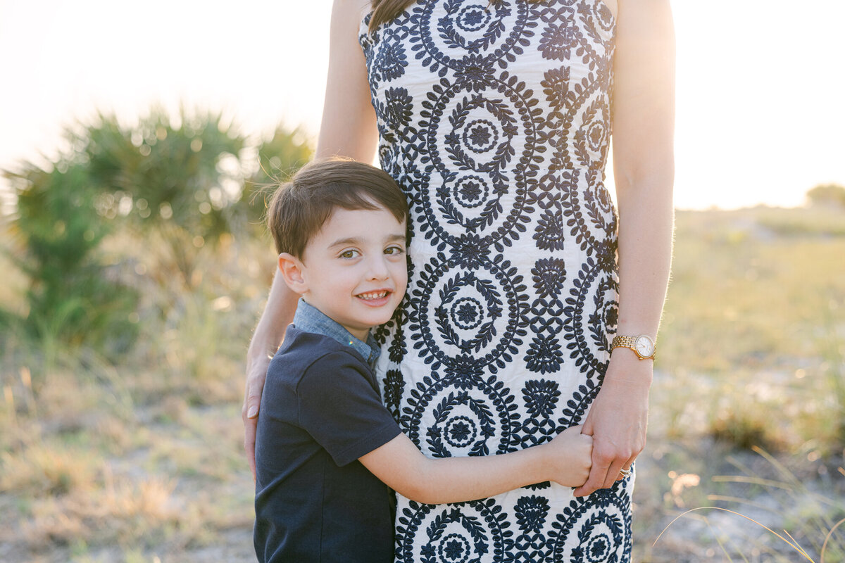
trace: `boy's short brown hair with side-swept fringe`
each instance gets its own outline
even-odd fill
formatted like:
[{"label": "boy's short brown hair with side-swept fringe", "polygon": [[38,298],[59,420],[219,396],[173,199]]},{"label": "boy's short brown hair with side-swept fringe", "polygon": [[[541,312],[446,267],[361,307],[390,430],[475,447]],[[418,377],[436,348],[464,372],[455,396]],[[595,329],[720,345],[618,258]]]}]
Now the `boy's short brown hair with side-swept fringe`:
[{"label": "boy's short brown hair with side-swept fringe", "polygon": [[270,198],[267,227],[275,249],[302,259],[308,241],[336,208],[385,208],[397,221],[408,217],[408,204],[393,178],[378,168],[341,157],[312,160]]}]

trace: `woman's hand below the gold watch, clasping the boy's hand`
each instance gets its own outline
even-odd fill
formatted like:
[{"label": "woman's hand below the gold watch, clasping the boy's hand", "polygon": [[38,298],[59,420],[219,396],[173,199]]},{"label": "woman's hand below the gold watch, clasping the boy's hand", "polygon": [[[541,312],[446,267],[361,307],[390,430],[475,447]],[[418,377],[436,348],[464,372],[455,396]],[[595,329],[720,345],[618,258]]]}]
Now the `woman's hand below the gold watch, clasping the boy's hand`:
[{"label": "woman's hand below the gold watch, clasping the boy's hand", "polygon": [[638,360],[633,350],[613,351],[602,389],[587,414],[582,432],[592,436],[592,467],[575,496],[607,489],[622,478],[646,447],[648,390],[653,360]]}]

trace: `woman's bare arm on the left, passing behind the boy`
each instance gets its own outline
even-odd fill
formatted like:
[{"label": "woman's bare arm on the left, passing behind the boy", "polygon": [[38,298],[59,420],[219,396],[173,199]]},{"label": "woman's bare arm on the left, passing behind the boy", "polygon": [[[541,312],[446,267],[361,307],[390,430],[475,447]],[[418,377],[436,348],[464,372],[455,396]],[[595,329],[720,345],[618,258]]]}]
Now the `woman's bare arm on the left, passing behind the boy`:
[{"label": "woman's bare arm on the left, passing behind the boy", "polygon": [[[332,7],[329,74],[317,140],[318,157],[341,155],[367,163],[373,161],[378,133],[370,102],[367,67],[357,39],[358,25],[368,7],[368,0],[335,0]],[[256,418],[267,366],[285,336],[285,328],[293,320],[298,297],[280,276],[275,276],[264,313],[249,344],[241,417],[243,449],[253,476]]]}]

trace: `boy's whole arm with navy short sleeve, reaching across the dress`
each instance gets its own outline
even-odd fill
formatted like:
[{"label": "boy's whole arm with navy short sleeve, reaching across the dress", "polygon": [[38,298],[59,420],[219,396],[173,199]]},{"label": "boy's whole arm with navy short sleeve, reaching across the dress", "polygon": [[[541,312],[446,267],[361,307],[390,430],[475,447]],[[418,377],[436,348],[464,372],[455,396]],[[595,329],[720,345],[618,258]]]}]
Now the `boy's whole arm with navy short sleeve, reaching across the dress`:
[{"label": "boy's whole arm with navy short sleeve, reaching across the dress", "polygon": [[314,358],[296,392],[297,424],[335,463],[360,460],[386,485],[414,501],[474,501],[549,480],[575,487],[590,473],[592,438],[581,434],[581,426],[520,452],[428,459],[384,408],[360,356],[346,350]]}]

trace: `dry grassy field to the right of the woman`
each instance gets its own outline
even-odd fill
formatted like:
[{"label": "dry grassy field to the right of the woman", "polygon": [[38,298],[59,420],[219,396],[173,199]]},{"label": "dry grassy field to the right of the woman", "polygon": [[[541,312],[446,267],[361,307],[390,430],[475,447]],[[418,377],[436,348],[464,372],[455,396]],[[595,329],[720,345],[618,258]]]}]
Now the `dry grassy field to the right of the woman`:
[{"label": "dry grassy field to the right of the woman", "polygon": [[[789,530],[820,560],[837,521],[831,506],[845,506],[843,256],[845,214],[678,214],[649,445],[637,462],[636,560],[797,560],[728,513],[685,517],[651,546],[672,517],[714,503]],[[790,469],[736,452],[751,447],[777,452]],[[790,471],[807,486],[765,486]],[[834,539],[845,542],[842,527]]]}]

